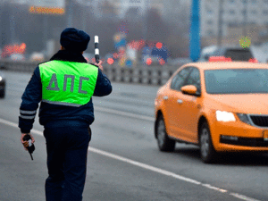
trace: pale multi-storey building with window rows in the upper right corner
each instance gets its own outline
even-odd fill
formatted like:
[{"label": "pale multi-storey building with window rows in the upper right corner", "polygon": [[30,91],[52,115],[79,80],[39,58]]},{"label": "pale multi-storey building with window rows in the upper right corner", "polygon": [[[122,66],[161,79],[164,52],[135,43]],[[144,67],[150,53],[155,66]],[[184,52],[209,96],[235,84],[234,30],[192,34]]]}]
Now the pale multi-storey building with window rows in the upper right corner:
[{"label": "pale multi-storey building with window rows in the upper right corner", "polygon": [[268,25],[268,0],[201,0],[202,38],[218,36],[221,10],[222,39],[247,35],[257,41],[258,31]]}]

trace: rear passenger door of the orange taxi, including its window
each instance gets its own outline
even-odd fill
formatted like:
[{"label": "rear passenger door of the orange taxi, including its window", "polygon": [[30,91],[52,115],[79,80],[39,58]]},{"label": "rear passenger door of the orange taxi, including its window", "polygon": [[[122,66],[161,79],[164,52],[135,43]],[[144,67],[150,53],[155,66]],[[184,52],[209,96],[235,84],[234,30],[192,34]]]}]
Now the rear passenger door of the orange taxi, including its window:
[{"label": "rear passenger door of the orange taxi, including its window", "polygon": [[173,77],[171,88],[168,90],[168,93],[163,96],[166,130],[169,136],[172,136],[173,138],[180,138],[180,132],[183,130],[183,124],[180,123],[183,119],[183,115],[180,113],[180,103],[178,100],[180,100],[182,96],[180,88],[184,85],[189,73],[190,68],[185,67],[181,69]]}]

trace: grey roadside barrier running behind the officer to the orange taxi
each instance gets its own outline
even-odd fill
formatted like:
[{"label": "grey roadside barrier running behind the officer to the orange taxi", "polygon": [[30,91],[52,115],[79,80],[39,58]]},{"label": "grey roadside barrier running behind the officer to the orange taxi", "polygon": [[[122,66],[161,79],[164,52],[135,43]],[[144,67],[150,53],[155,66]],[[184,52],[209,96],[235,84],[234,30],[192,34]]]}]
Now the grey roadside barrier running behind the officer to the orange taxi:
[{"label": "grey roadside barrier running behind the officer to the orange taxi", "polygon": [[[13,62],[0,60],[0,67],[6,71],[33,72],[38,63]],[[104,65],[104,73],[111,81],[124,83],[137,83],[144,85],[163,85],[180,66],[140,66],[119,67]]]}]

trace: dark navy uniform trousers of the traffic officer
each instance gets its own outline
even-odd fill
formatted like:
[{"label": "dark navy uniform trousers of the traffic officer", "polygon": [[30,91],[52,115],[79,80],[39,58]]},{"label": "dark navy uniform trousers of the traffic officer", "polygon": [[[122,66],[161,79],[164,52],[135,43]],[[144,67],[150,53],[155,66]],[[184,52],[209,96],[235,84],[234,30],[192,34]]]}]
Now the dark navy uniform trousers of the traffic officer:
[{"label": "dark navy uniform trousers of the traffic officer", "polygon": [[86,182],[91,130],[79,121],[54,121],[45,126],[46,201],[80,201]]}]

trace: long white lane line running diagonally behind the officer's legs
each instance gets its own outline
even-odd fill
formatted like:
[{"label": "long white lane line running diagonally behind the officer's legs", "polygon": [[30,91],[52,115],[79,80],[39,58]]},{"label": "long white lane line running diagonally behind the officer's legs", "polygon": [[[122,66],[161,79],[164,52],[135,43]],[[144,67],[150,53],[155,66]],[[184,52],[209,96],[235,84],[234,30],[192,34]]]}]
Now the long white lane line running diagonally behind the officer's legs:
[{"label": "long white lane line running diagonally behind the officer's legs", "polygon": [[[4,124],[7,124],[7,125],[10,125],[12,127],[18,128],[18,124],[14,123],[12,121],[6,121],[6,120],[0,118],[0,122],[4,123]],[[40,136],[43,136],[43,132],[40,131],[40,130],[31,130],[30,133],[35,133],[35,134],[38,134]],[[201,185],[201,186],[203,186],[205,188],[214,189],[214,190],[216,190],[218,192],[221,192],[221,193],[227,193],[228,192],[228,190],[226,190],[226,189],[217,188],[217,187],[211,186],[210,184],[203,184],[202,182],[199,182],[197,180],[192,180],[192,179],[189,179],[187,177],[183,177],[183,176],[181,176],[179,174],[175,174],[173,172],[169,172],[169,171],[165,171],[165,170],[160,169],[160,168],[156,168],[156,167],[148,165],[146,163],[139,163],[137,161],[133,161],[133,160],[131,160],[129,158],[125,158],[125,157],[122,157],[120,155],[113,155],[112,153],[105,152],[103,150],[100,150],[100,149],[97,149],[97,148],[94,148],[94,147],[88,147],[88,151],[96,153],[98,155],[105,155],[107,157],[110,157],[110,158],[113,158],[113,159],[116,159],[116,160],[119,160],[119,161],[122,161],[122,162],[125,162],[125,163],[130,163],[130,164],[136,165],[138,167],[147,169],[147,170],[152,171],[152,172],[158,172],[158,173],[161,173],[163,175],[173,177],[173,178],[175,178],[177,180],[184,180],[184,181],[189,182],[189,183]],[[237,194],[237,193],[229,193],[229,195],[232,196],[232,197],[237,197],[237,198],[242,199],[242,200],[246,200],[246,201],[260,201],[260,200],[257,200],[257,199],[251,198],[251,197],[247,197],[247,196],[243,196],[243,195],[240,195],[240,194]]]}]

